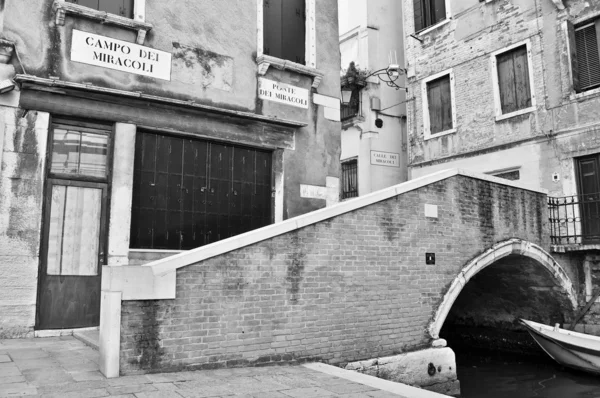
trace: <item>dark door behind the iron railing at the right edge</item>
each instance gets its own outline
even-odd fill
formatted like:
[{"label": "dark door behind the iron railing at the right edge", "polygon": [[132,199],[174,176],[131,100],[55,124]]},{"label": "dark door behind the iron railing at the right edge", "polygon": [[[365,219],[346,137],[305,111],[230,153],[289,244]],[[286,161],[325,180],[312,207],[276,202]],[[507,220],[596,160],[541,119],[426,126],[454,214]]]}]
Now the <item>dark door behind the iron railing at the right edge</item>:
[{"label": "dark door behind the iron railing at the right edge", "polygon": [[600,155],[577,159],[583,243],[600,242]]}]

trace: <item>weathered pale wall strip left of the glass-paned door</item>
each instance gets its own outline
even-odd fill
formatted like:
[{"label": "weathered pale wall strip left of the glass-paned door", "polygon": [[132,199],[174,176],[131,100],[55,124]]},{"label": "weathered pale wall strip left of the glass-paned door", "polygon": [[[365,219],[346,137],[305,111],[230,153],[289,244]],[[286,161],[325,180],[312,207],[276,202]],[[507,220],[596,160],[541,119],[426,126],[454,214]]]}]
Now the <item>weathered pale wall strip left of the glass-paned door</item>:
[{"label": "weathered pale wall strip left of the glass-paned door", "polygon": [[48,116],[0,111],[0,339],[33,333]]}]

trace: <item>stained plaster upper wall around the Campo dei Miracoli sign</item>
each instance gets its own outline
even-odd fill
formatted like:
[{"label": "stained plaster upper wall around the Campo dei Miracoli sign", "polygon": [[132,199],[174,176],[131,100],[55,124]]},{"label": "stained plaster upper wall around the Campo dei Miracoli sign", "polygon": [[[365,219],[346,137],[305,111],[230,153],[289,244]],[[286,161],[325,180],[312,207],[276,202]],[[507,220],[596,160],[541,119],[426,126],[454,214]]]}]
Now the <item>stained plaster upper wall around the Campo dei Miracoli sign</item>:
[{"label": "stained plaster upper wall around the Campo dei Miracoli sign", "polygon": [[[299,189],[300,184],[324,186],[326,176],[339,176],[339,122],[326,119],[323,107],[312,104],[311,98],[309,109],[258,99],[256,1],[210,4],[148,1],[146,22],[151,23],[153,28],[148,32],[144,45],[172,53],[171,81],[71,62],[73,29],[129,42],[135,41],[136,33],[69,13],[64,26],[59,26],[52,4],[52,0],[24,0],[11,3],[5,10],[3,36],[16,43],[29,74],[192,100],[195,103],[307,123],[307,127],[296,131],[294,148],[284,153],[283,215],[287,218],[325,206],[323,200],[300,198]],[[319,1],[316,7],[316,67],[324,73],[324,77],[315,91],[337,98],[337,3],[334,0]],[[24,29],[26,26],[40,28]],[[16,60],[12,62],[18,65]],[[18,72],[22,73],[22,70]],[[270,68],[265,77],[313,91],[312,78],[296,72]],[[204,133],[204,136],[216,140],[223,139],[219,131],[205,130],[209,129],[204,129],[200,123],[180,131]],[[227,137],[223,140],[230,139]]]}]

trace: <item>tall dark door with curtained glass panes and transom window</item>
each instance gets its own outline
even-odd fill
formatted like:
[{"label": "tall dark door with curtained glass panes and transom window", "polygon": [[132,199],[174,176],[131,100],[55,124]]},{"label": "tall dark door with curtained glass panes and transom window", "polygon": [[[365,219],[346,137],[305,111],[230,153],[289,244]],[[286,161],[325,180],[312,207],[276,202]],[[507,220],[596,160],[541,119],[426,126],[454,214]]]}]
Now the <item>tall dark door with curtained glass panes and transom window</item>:
[{"label": "tall dark door with curtained glass panes and transom window", "polygon": [[36,328],[98,326],[111,128],[54,119]]}]

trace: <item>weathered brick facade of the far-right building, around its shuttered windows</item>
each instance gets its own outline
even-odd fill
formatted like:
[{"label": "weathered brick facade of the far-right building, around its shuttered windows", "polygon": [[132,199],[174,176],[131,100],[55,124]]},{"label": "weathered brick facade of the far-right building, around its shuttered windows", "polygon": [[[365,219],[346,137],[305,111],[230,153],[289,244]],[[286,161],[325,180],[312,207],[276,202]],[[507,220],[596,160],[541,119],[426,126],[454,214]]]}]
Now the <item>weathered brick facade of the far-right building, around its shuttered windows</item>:
[{"label": "weathered brick facade of the far-right building, around its shuttered windows", "polygon": [[[520,165],[526,181],[539,181],[551,194],[574,194],[573,157],[600,151],[600,93],[575,95],[563,23],[598,16],[600,4],[569,0],[565,11],[559,11],[551,1],[450,3],[451,22],[421,35],[423,43],[406,39],[409,96],[414,98],[408,103],[412,175],[458,164],[473,170],[483,165],[486,171]],[[408,35],[414,32],[409,0],[404,1],[404,16]],[[536,110],[495,121],[490,54],[526,39],[532,46]],[[455,74],[457,131],[425,141],[421,81],[450,68]],[[535,144],[524,143],[520,149],[504,147],[533,138]],[[559,183],[551,179],[555,172],[564,176]]]}]

